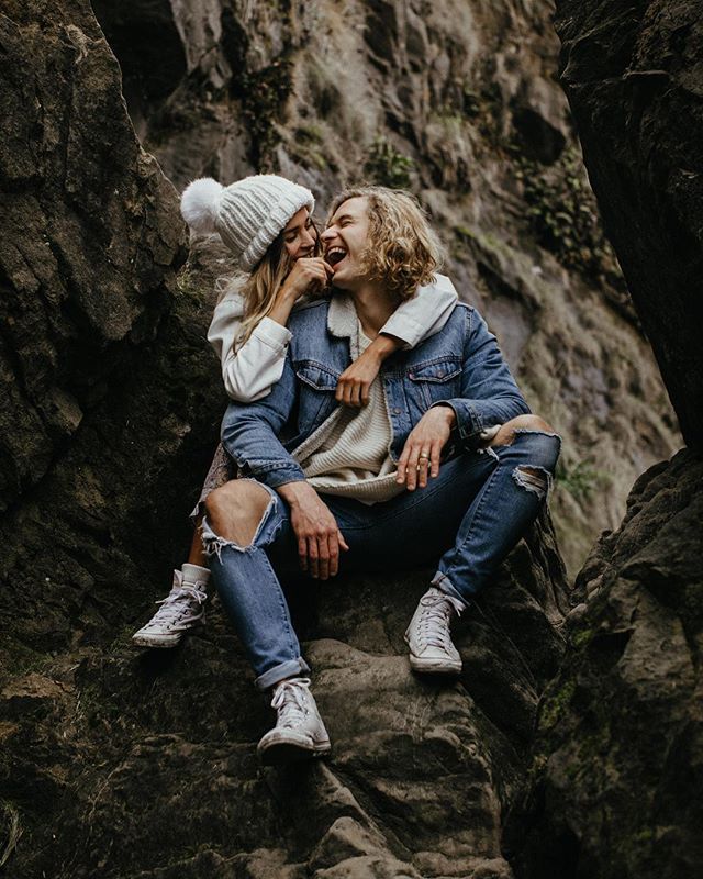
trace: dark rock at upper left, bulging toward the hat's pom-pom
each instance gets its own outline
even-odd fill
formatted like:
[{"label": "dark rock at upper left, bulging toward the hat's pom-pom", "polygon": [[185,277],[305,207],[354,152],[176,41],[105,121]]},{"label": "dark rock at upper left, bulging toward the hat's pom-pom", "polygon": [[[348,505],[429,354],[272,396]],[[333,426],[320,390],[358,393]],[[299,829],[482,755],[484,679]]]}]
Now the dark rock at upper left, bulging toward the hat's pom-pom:
[{"label": "dark rock at upper left, bulging toward the hat's pom-pom", "polygon": [[90,10],[10,2],[0,43],[7,510],[129,370],[133,346],[154,337],[182,259],[182,225],[176,192],[134,136]]}]

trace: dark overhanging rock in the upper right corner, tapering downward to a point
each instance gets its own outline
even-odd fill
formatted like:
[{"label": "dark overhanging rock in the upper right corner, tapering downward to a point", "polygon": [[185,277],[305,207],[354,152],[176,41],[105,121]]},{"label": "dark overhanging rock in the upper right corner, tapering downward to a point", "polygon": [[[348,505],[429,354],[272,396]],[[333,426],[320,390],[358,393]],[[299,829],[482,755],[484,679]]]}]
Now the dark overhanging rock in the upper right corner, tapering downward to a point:
[{"label": "dark overhanging rock in the upper right corner, tapering downward to a point", "polygon": [[[561,81],[684,439],[703,448],[703,23],[698,3],[559,0]],[[633,234],[633,230],[637,234]]]}]

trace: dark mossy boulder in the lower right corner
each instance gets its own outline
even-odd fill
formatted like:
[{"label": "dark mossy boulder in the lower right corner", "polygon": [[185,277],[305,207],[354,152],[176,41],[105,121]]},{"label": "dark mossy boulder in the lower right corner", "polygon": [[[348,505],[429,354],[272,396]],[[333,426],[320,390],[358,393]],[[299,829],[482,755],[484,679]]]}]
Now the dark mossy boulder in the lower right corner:
[{"label": "dark mossy boulder in the lower right corner", "polygon": [[509,834],[520,879],[700,872],[702,522],[703,461],[683,450],[637,481],[589,557]]}]

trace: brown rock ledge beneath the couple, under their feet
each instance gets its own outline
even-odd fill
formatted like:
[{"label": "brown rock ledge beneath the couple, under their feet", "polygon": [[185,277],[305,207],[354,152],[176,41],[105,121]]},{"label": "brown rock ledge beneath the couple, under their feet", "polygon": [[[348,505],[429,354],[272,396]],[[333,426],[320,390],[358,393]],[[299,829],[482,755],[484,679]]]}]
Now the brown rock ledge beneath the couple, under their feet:
[{"label": "brown rock ledge beneath the couple, under their feet", "polygon": [[13,876],[510,877],[502,815],[563,650],[549,523],[457,626],[456,682],[408,665],[402,633],[428,576],[290,583],[333,739],[316,765],[258,766],[271,712],[219,607],[176,650],[136,653],[127,627],[15,677],[0,694],[0,777],[23,831]]}]

